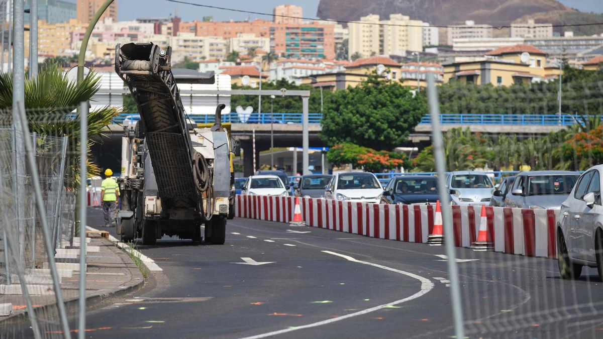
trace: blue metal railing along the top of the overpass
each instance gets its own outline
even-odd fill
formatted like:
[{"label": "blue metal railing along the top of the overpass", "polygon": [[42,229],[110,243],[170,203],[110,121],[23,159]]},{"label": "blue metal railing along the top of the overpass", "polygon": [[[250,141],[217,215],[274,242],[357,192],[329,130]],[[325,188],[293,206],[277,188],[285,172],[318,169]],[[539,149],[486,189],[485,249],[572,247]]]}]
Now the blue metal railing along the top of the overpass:
[{"label": "blue metal railing along the top of the overpass", "polygon": [[[121,124],[126,118],[140,119],[137,114],[123,113],[113,119],[113,122]],[[193,121],[198,124],[209,124],[214,121],[213,114],[208,115],[189,115]],[[442,114],[441,124],[444,125],[549,125],[549,126],[569,126],[580,121],[579,116],[575,115],[556,115],[556,114]],[[321,113],[309,113],[308,122],[310,124],[320,124],[323,115]],[[227,113],[222,115],[223,122],[232,122],[233,124],[301,124],[301,113],[252,113],[247,119],[241,120],[237,113]],[[245,121],[245,122],[243,122]],[[431,124],[431,116],[426,115],[421,118],[420,124]]]}]

